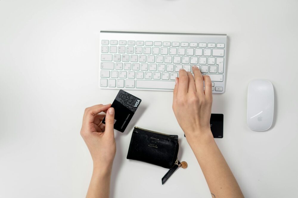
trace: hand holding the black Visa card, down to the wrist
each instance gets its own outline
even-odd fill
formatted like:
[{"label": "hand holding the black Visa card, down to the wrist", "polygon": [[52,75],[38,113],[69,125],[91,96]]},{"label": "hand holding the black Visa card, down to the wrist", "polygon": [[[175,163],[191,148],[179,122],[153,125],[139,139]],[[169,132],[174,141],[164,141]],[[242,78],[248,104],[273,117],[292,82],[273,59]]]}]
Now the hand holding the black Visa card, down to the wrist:
[{"label": "hand holding the black Visa card, down to the wrist", "polygon": [[[99,114],[101,112],[105,114]],[[88,107],[83,116],[81,136],[83,137],[93,160],[93,167],[111,170],[116,154],[114,138],[115,110],[111,104],[98,104]],[[105,117],[105,124],[102,123]]]}]

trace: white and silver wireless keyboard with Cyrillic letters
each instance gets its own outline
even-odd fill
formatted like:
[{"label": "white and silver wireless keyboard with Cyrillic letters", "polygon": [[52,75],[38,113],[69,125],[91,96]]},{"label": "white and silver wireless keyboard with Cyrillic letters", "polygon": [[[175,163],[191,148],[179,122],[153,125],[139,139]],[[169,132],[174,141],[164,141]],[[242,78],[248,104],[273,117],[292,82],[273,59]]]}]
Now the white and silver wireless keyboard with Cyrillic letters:
[{"label": "white and silver wireless keyboard with Cyrillic letters", "polygon": [[209,75],[225,91],[226,34],[100,32],[102,89],[172,91],[179,69]]}]

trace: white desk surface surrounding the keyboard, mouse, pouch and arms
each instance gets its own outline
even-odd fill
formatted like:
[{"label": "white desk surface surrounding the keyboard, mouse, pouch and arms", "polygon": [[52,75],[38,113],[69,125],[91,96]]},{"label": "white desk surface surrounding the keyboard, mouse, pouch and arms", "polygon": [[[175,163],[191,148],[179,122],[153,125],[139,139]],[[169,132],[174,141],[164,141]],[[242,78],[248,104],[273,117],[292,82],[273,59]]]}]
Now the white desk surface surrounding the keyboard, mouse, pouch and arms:
[{"label": "white desk surface surrounding the keyboard, mouse, pouch and arms", "polygon": [[[92,172],[80,137],[85,107],[113,102],[98,88],[99,33],[154,31],[228,35],[224,114],[216,139],[245,197],[297,197],[298,1],[0,1],[0,197],[84,197]],[[273,127],[249,130],[250,80],[275,90]],[[116,132],[111,197],[211,197],[172,112],[172,93],[143,99],[125,133]],[[126,159],[132,127],[178,134],[187,161],[167,169]]]}]

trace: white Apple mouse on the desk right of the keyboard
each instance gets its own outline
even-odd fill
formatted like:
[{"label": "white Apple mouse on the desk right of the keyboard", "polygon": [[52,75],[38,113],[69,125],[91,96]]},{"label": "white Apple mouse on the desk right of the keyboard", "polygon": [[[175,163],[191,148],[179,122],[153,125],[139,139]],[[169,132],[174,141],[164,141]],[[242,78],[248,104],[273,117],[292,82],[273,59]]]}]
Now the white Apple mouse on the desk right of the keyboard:
[{"label": "white Apple mouse on the desk right of the keyboard", "polygon": [[247,92],[247,124],[254,131],[266,131],[273,122],[274,90],[268,80],[252,80]]}]

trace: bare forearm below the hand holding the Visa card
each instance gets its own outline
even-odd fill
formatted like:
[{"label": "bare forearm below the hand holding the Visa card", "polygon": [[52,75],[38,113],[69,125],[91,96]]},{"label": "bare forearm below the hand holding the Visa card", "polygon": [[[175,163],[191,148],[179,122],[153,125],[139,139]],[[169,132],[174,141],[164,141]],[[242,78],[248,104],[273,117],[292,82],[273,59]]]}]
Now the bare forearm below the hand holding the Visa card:
[{"label": "bare forearm below the hand holding the Visa card", "polygon": [[111,168],[93,168],[86,198],[108,198],[110,194]]}]

